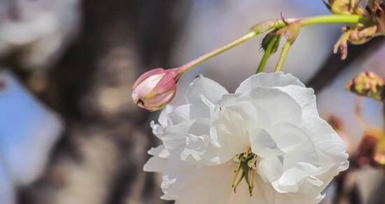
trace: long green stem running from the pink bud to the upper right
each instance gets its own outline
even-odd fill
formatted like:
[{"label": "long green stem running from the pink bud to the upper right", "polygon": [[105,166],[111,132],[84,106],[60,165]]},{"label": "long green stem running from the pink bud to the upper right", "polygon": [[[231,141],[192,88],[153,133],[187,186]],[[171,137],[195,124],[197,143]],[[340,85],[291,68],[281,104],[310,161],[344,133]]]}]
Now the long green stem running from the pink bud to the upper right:
[{"label": "long green stem running from the pink bud to the upper right", "polygon": [[302,26],[309,26],[309,25],[315,25],[315,24],[358,24],[358,23],[371,24],[372,23],[372,20],[370,19],[370,17],[362,17],[360,15],[320,15],[320,16],[304,17],[304,18],[289,18],[289,19],[285,19],[284,21],[282,19],[269,20],[269,21],[262,22],[260,24],[255,25],[250,33],[242,36],[241,38],[238,38],[232,43],[225,45],[221,48],[218,48],[214,51],[211,51],[207,54],[204,54],[202,57],[198,57],[197,59],[190,61],[188,64],[185,64],[180,68],[183,71],[183,73],[186,73],[191,68],[202,64],[204,61],[207,61],[208,59],[211,59],[218,54],[221,54],[227,50],[230,50],[231,48],[234,48],[235,46],[240,45],[241,43],[244,43],[255,36],[258,36],[259,34],[262,34],[265,31],[286,27],[287,26],[286,23],[296,22],[299,20],[302,22]]}]

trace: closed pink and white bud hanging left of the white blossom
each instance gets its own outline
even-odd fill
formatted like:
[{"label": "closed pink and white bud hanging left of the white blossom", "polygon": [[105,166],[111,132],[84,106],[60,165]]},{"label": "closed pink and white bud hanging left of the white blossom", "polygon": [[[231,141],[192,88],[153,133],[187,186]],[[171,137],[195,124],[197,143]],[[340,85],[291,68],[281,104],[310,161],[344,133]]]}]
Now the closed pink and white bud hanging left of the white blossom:
[{"label": "closed pink and white bud hanging left of the white blossom", "polygon": [[174,99],[176,82],[182,73],[179,68],[155,68],[141,75],[132,87],[134,103],[149,111],[164,108]]}]

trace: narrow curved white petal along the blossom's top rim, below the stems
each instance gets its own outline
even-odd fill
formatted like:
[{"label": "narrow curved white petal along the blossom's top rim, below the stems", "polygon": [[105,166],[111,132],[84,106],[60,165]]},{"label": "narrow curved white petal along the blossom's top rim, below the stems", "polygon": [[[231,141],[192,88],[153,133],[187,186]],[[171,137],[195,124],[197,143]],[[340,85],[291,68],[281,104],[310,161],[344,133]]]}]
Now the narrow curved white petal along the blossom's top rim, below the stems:
[{"label": "narrow curved white petal along the blossom's top rim, below the stems", "polygon": [[255,87],[285,87],[288,85],[304,87],[303,83],[291,74],[258,73],[241,82],[235,93],[244,93]]}]

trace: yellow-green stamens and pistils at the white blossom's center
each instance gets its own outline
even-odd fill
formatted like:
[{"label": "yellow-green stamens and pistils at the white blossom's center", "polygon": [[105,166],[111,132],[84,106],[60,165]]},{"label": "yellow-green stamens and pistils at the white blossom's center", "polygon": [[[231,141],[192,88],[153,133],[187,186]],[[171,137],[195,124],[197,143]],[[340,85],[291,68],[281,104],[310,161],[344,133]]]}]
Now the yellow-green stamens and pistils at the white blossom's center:
[{"label": "yellow-green stamens and pistils at the white blossom's center", "polygon": [[234,156],[234,161],[237,162],[237,167],[234,170],[234,177],[232,177],[232,188],[237,193],[237,187],[242,180],[246,181],[248,186],[248,194],[253,196],[255,164],[257,162],[257,154],[251,152],[251,148],[244,153]]}]

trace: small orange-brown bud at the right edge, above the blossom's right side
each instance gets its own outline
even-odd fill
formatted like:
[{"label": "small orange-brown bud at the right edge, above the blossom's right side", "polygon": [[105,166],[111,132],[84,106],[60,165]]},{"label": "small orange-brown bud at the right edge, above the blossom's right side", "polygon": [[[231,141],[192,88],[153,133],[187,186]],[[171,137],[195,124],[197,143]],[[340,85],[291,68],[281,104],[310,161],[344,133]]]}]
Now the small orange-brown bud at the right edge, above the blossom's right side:
[{"label": "small orange-brown bud at the right edge, above the blossom's right side", "polygon": [[359,96],[367,96],[377,101],[384,101],[384,80],[370,71],[358,74],[347,83],[346,89]]}]

